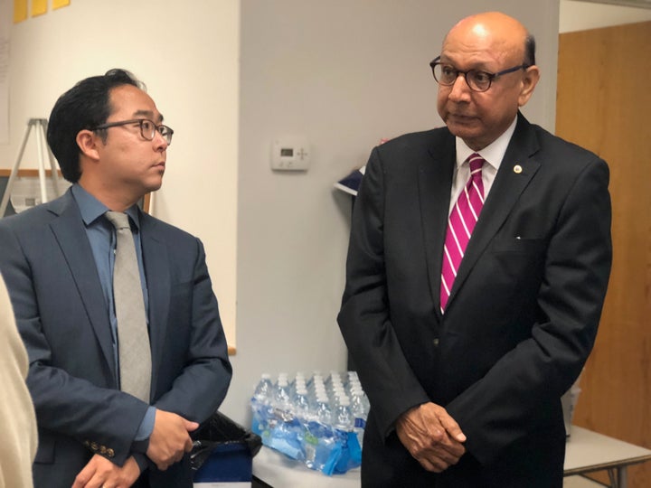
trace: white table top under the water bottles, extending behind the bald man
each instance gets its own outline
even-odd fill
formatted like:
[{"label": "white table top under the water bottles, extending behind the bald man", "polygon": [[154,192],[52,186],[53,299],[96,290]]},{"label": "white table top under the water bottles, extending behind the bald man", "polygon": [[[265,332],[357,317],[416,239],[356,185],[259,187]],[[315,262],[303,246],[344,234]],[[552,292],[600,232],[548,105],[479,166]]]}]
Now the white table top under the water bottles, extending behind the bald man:
[{"label": "white table top under the water bottles, extending behind the bald man", "polygon": [[[571,474],[588,473],[651,460],[651,449],[603,436],[586,428],[571,427],[565,453],[567,488],[594,486],[589,480]],[[309,486],[310,488],[359,488],[360,468],[345,474],[326,476],[289,459],[267,446],[253,458],[253,475],[271,486]]]}]

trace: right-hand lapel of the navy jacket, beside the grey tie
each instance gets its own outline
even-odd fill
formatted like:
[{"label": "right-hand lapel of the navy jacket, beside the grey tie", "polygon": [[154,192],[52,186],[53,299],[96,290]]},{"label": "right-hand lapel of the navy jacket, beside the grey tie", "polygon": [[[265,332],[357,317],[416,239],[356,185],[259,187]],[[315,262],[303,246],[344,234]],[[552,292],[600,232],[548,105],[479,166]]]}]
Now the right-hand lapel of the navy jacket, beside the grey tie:
[{"label": "right-hand lapel of the navy jacket, beside the grey tie", "polygon": [[156,235],[156,220],[140,212],[140,239],[147,291],[149,294],[149,342],[152,348],[152,395],[156,394],[156,375],[163,360],[170,297],[167,247]]}]

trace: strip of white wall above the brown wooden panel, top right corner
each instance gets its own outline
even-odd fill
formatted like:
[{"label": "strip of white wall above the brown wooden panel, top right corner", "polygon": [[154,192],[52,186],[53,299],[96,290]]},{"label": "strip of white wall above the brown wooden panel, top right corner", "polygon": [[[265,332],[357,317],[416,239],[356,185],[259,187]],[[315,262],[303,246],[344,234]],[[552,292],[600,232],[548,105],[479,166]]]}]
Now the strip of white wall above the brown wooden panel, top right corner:
[{"label": "strip of white wall above the brown wooden panel, top right corner", "polygon": [[560,33],[651,21],[651,9],[561,0]]}]

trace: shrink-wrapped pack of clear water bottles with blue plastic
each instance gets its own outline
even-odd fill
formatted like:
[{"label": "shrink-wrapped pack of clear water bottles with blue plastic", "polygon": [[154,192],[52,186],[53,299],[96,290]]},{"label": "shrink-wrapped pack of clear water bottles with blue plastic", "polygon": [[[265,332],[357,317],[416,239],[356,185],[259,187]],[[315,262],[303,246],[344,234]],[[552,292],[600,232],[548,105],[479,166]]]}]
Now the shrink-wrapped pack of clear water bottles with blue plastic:
[{"label": "shrink-wrapped pack of clear water bottles with blue plastic", "polygon": [[251,430],[265,446],[324,474],[342,474],[362,464],[368,399],[357,373],[315,371],[294,380],[262,374],[250,401]]}]

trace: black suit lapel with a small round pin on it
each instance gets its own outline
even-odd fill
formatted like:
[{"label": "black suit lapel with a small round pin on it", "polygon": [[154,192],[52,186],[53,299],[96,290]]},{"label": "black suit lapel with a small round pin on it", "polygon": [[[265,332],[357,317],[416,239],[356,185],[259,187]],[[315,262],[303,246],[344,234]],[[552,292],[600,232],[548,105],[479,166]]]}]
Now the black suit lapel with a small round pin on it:
[{"label": "black suit lapel with a small round pin on it", "polygon": [[529,122],[518,114],[514,136],[511,137],[505,157],[495,175],[495,181],[458,268],[448,307],[460,292],[477,259],[481,257],[508,215],[514,210],[524,188],[540,168],[540,163],[535,159],[538,148],[538,142]]}]

